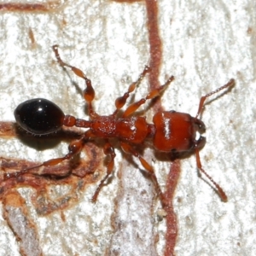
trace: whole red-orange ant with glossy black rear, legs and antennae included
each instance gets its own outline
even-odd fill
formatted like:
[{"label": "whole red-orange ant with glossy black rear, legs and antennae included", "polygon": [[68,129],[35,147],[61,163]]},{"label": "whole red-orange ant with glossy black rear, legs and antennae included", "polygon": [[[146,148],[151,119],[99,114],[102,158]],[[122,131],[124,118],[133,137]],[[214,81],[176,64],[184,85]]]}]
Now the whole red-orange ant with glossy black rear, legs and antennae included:
[{"label": "whole red-orange ant with glossy black rear, legs and antennae included", "polygon": [[[61,60],[61,56],[58,52],[58,45],[54,45],[52,48],[61,67],[70,67],[73,73],[84,79],[86,84],[86,88],[84,90],[84,100],[88,104],[90,119],[76,119],[72,115],[65,115],[61,108],[56,106],[55,103],[49,102],[43,98],[32,99],[21,103],[15,109],[16,122],[21,128],[35,135],[43,135],[57,131],[62,125],[88,128],[88,130],[85,131],[84,134],[79,138],[79,140],[75,140],[69,144],[68,153],[65,156],[47,160],[39,166],[55,166],[61,163],[63,160],[70,160],[75,154],[79,154],[84,146],[84,143],[87,143],[88,140],[93,140],[94,138],[104,139],[105,143],[103,146],[103,152],[106,156],[109,156],[110,160],[108,161],[107,165],[107,174],[102,178],[95,194],[92,197],[92,201],[95,202],[105,181],[113,172],[115,153],[109,139],[117,138],[123,151],[137,157],[143,165],[143,168],[148,171],[152,177],[162,206],[164,207],[165,195],[160,189],[160,185],[154,174],[153,167],[146,160],[144,160],[134,148],[143,144],[147,140],[152,142],[155,150],[170,153],[173,156],[178,157],[183,153],[195,152],[197,168],[212,182],[222,201],[227,201],[227,196],[225,195],[224,190],[220,188],[218,183],[216,183],[201,166],[199,150],[204,147],[206,139],[202,136],[200,136],[199,139],[196,139],[196,134],[201,134],[206,131],[206,126],[201,119],[198,119],[198,116],[202,111],[207,97],[212,96],[220,90],[234,86],[234,79],[230,79],[227,84],[224,84],[217,90],[213,90],[206,96],[202,96],[195,117],[190,116],[189,113],[160,111],[154,114],[153,124],[148,124],[145,117],[132,115],[137,111],[137,108],[142,106],[147,100],[160,96],[160,93],[166,89],[166,86],[171,84],[173,81],[173,76],[166,81],[166,84],[161,85],[158,89],[151,90],[145,98],[142,98],[138,102],[134,102],[128,106],[128,108],[126,108],[119,117],[117,114],[119,113],[119,110],[124,107],[131,92],[136,89],[138,84],[141,83],[145,75],[150,71],[150,68],[146,66],[137,81],[130,85],[129,89],[123,96],[116,99],[115,111],[108,116],[101,116],[97,114],[92,107],[95,91],[90,83],[90,79],[87,79],[79,68],[73,67]],[[6,174],[5,178],[20,176],[22,173],[26,173],[29,170],[39,166],[26,168],[20,172]]]}]

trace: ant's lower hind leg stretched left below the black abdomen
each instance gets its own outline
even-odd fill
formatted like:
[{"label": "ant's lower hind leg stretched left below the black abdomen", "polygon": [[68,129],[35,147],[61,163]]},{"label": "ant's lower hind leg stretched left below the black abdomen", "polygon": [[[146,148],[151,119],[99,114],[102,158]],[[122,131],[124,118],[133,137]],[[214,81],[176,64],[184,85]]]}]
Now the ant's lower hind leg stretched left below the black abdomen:
[{"label": "ant's lower hind leg stretched left below the black abdomen", "polygon": [[32,169],[35,169],[35,168],[38,168],[38,167],[41,167],[41,166],[45,166],[45,167],[47,167],[47,166],[56,166],[64,160],[70,160],[75,154],[79,154],[81,152],[81,150],[84,146],[85,140],[87,140],[89,137],[93,137],[90,130],[86,131],[84,133],[83,137],[81,137],[79,140],[75,140],[72,143],[70,143],[69,146],[68,146],[68,153],[66,155],[64,155],[63,157],[44,161],[41,165],[32,166],[30,168],[23,169],[20,172],[6,173],[6,174],[4,174],[3,179],[7,180],[11,177],[19,177],[20,175],[22,175],[26,172],[29,172]]}]

